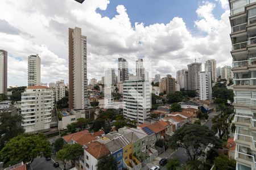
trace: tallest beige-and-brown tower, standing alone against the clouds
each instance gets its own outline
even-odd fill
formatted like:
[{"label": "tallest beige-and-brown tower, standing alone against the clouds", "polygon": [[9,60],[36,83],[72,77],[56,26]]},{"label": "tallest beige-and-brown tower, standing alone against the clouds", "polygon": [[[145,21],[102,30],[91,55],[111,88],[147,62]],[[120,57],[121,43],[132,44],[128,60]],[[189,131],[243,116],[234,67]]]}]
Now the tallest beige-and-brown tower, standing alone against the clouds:
[{"label": "tallest beige-and-brown tower, standing alone against the clouds", "polygon": [[86,36],[81,28],[69,28],[69,109],[88,105]]}]

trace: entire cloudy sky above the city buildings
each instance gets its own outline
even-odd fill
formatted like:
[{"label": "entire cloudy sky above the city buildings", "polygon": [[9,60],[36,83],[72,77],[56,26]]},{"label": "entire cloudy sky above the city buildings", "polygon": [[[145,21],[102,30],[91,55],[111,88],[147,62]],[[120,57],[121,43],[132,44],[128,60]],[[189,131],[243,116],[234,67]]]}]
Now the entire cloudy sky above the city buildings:
[{"label": "entire cloudy sky above the city buildings", "polygon": [[100,80],[106,65],[117,69],[118,57],[133,65],[143,56],[152,75],[162,77],[176,76],[195,58],[231,65],[229,14],[228,0],[2,0],[8,86],[27,84],[31,54],[41,58],[43,83],[68,82],[68,28],[75,27],[87,36],[89,80]]}]

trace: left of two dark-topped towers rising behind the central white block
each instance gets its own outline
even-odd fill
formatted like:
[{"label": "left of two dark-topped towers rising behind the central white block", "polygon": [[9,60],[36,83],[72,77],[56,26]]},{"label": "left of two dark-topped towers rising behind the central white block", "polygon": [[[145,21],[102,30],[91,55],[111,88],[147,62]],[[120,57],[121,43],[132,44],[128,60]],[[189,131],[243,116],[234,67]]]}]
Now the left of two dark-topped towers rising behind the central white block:
[{"label": "left of two dark-topped towers rising behind the central white block", "polygon": [[128,62],[125,58],[118,58],[118,82],[123,82],[128,80],[129,72],[128,72]]}]

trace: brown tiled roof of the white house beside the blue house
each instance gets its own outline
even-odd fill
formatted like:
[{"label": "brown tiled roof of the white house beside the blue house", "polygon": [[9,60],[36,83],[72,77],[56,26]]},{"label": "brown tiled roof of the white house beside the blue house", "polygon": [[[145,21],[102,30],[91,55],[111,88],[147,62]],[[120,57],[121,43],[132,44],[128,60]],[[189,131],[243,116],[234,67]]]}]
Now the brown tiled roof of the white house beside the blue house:
[{"label": "brown tiled roof of the white house beside the blue house", "polygon": [[88,148],[86,148],[85,150],[96,159],[100,159],[102,158],[102,156],[110,154],[109,149],[100,142],[90,142],[87,143],[86,146]]}]

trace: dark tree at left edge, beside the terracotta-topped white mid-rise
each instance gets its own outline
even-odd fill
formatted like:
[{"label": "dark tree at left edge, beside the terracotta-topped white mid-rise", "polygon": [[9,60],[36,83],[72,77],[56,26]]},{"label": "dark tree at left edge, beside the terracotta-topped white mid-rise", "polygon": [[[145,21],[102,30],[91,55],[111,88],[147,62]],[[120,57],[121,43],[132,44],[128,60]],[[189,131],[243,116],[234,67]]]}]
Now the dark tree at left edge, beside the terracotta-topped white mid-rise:
[{"label": "dark tree at left edge, beside the terracotta-topped white mid-rise", "polygon": [[22,116],[10,113],[0,112],[0,150],[5,146],[5,143],[11,138],[24,133],[22,126],[19,126],[22,121]]}]

